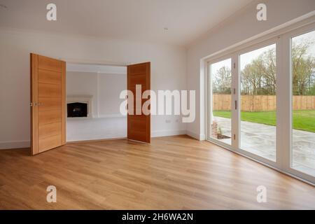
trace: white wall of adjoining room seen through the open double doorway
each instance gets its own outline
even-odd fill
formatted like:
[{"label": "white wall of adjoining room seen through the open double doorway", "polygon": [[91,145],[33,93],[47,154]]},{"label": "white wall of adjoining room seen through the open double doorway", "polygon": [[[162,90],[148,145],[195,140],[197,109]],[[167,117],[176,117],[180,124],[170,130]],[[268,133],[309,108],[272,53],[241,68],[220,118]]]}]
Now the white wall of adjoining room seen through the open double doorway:
[{"label": "white wall of adjoining room seen through the open double doorway", "polygon": [[66,119],[66,141],[125,138],[127,116],[120,113],[120,104],[124,101],[120,99],[120,92],[126,87],[126,71],[125,73],[66,71],[67,97],[79,99],[89,96],[92,102],[90,118]]}]

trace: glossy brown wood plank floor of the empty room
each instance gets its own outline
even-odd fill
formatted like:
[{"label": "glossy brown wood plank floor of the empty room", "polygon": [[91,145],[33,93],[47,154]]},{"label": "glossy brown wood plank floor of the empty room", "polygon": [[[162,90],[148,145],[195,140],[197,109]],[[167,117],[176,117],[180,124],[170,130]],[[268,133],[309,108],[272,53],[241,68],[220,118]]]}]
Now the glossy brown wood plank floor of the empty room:
[{"label": "glossy brown wood plank floor of the empty room", "polygon": [[0,209],[315,209],[315,188],[186,136],[111,140],[0,151]]}]

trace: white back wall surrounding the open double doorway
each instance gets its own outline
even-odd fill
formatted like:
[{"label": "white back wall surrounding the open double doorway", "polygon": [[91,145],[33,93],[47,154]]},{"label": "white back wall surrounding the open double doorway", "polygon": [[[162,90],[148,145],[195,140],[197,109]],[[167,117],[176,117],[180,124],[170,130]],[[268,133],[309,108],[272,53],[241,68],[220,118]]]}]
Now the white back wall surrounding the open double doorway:
[{"label": "white back wall surrounding the open double doorway", "polygon": [[[29,146],[30,52],[68,62],[150,61],[152,90],[186,89],[186,50],[177,46],[1,28],[0,49],[0,148]],[[183,134],[186,124],[179,116],[152,116],[151,131],[153,137]]]}]

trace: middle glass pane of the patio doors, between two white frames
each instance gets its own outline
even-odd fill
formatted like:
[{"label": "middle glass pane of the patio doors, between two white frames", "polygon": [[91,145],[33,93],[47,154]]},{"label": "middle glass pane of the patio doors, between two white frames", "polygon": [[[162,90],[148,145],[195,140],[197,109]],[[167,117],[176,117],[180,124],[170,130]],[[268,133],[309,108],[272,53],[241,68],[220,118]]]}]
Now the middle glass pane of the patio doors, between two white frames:
[{"label": "middle glass pane of the patio doors, between two white frames", "polygon": [[276,44],[240,55],[241,149],[276,161]]}]

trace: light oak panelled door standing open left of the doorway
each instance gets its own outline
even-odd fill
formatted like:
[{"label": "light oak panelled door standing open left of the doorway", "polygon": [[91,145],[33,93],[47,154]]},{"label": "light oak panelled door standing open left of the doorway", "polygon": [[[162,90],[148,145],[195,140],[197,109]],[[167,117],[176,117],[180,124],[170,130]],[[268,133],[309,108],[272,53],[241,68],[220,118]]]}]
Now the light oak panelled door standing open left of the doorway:
[{"label": "light oak panelled door standing open left of the doorway", "polygon": [[31,154],[66,144],[66,62],[31,53]]}]

